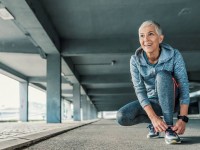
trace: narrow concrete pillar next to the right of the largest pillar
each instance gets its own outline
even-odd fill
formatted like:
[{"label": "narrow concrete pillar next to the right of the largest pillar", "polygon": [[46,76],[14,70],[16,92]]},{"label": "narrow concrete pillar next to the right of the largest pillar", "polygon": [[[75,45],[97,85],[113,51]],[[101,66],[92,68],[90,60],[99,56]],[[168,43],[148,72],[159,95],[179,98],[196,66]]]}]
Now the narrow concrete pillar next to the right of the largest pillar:
[{"label": "narrow concrete pillar next to the right of the largest pillar", "polygon": [[74,121],[81,121],[81,91],[80,84],[73,85]]}]

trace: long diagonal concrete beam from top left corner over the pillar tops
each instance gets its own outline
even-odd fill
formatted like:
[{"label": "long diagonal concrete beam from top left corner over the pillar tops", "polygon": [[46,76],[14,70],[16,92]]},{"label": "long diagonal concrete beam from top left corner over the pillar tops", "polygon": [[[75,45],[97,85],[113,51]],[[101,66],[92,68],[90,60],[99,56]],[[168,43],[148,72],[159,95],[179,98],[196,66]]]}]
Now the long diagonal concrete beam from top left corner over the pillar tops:
[{"label": "long diagonal concrete beam from top left corner over the pillar tops", "polygon": [[[37,47],[43,58],[46,58],[46,54],[60,54],[58,35],[39,0],[2,0],[1,2],[15,16],[13,22]],[[72,83],[80,83],[79,74],[71,59],[61,58],[61,61],[65,77]],[[85,94],[85,89],[83,87],[81,89]]]}]

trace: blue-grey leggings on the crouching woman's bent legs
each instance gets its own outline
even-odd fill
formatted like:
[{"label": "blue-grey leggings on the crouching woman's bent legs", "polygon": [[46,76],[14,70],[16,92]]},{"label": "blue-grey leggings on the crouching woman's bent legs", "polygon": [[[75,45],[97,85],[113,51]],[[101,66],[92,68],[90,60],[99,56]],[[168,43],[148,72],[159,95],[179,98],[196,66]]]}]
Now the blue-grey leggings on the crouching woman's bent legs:
[{"label": "blue-grey leggings on the crouching woman's bent legs", "polygon": [[[157,99],[149,99],[151,106],[158,116],[163,116],[167,125],[173,125],[173,113],[178,110],[175,108],[175,99],[178,96],[174,80],[171,73],[160,71],[156,75]],[[175,108],[175,109],[174,109]],[[151,123],[146,112],[141,107],[138,100],[126,104],[117,112],[117,121],[120,125],[130,126],[138,123]]]}]

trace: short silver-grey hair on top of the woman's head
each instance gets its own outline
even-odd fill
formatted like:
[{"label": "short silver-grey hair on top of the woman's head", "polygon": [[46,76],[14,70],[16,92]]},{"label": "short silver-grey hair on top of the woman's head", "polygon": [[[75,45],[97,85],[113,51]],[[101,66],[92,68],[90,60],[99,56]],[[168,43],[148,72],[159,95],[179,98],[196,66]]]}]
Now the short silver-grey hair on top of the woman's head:
[{"label": "short silver-grey hair on top of the woman's head", "polygon": [[152,20],[144,21],[144,22],[140,25],[140,27],[139,27],[139,29],[138,29],[138,32],[141,30],[141,28],[146,27],[146,26],[150,26],[150,25],[153,25],[153,26],[155,27],[155,30],[156,30],[156,32],[157,32],[158,35],[163,35],[162,29],[161,29],[159,23],[157,23],[157,22],[155,22],[155,21],[152,21]]}]

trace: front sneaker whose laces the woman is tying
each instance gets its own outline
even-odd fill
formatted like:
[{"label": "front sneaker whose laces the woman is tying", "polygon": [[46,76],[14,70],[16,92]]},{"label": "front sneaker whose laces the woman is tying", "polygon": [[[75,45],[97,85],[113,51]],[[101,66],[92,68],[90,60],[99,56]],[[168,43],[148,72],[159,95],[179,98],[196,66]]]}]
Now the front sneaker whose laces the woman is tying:
[{"label": "front sneaker whose laces the woman is tying", "polygon": [[166,144],[177,144],[181,143],[180,137],[174,132],[171,127],[165,131],[165,143]]}]

